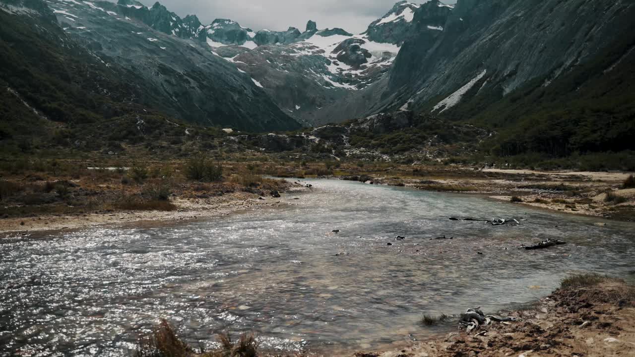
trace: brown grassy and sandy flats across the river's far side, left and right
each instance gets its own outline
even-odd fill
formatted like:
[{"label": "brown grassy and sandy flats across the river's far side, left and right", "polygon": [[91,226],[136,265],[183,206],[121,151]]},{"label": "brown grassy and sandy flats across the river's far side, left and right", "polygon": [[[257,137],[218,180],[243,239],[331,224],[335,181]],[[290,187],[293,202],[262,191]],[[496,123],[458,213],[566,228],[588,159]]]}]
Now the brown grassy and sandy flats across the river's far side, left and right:
[{"label": "brown grassy and sandy flats across the river's far side, left and right", "polygon": [[[272,192],[304,186],[263,179],[259,175],[305,177],[309,172],[319,175],[326,170],[320,165],[315,163],[311,169],[297,172],[272,165],[255,168],[241,163],[224,163],[224,180],[208,184],[187,180],[185,168],[180,163],[155,164],[147,168],[95,168],[77,163],[64,166],[64,170],[58,166],[53,172],[10,175],[0,182],[3,203],[0,206],[0,232],[200,219],[281,205],[283,203],[272,197]],[[408,165],[342,165],[325,176],[424,191],[480,194],[500,201],[514,198],[520,205],[547,210],[635,220],[635,189],[621,189],[629,173],[474,170],[451,165],[417,168]]]}]

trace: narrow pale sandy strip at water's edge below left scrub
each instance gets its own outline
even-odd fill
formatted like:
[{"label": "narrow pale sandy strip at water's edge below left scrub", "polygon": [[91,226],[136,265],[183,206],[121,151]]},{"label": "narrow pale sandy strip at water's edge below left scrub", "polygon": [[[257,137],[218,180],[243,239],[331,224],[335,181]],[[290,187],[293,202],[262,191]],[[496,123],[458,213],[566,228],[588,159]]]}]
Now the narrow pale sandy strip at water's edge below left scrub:
[{"label": "narrow pale sandy strip at water's edge below left scrub", "polygon": [[175,198],[171,202],[177,210],[162,211],[117,211],[77,215],[41,215],[0,220],[0,233],[23,234],[37,231],[77,229],[103,224],[130,222],[161,222],[221,217],[245,210],[260,210],[284,205],[293,205],[289,192],[302,192],[302,187],[291,187],[281,198],[260,197],[247,192],[233,192],[224,196],[204,199]]}]

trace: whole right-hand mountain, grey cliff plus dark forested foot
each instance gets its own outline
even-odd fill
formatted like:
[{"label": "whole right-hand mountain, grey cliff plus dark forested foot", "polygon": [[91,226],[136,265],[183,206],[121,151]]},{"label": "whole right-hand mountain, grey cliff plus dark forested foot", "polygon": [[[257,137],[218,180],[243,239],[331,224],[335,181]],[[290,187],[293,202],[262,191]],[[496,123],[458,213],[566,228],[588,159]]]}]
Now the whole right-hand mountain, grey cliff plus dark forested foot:
[{"label": "whole right-hand mountain, grey cliff plus dark forested foot", "polygon": [[505,155],[633,149],[634,16],[630,1],[430,1],[414,10],[387,75],[325,113],[410,110],[485,125],[499,133],[485,147]]}]

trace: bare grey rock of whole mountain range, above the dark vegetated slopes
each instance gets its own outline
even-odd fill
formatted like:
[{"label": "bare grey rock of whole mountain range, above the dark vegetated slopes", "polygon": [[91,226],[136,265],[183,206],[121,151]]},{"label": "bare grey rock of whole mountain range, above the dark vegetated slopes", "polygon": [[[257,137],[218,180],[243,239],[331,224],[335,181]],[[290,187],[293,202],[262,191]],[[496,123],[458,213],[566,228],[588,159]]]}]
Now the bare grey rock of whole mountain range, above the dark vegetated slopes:
[{"label": "bare grey rock of whole mountain range, above the dark vegetated slopes", "polygon": [[304,31],[204,25],[134,0],[48,4],[104,62],[143,74],[172,114],[218,125],[290,116],[319,126],[400,110],[465,119],[462,108],[479,111],[532,81],[550,86],[630,36],[635,18],[625,0],[400,1],[351,34],[312,21]]}]

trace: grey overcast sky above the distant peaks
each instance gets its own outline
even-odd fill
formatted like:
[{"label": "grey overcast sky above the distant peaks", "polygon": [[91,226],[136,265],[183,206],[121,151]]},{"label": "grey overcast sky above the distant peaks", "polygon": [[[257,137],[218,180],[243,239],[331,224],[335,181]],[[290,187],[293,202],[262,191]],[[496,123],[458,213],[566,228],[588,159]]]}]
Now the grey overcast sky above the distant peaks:
[{"label": "grey overcast sky above the distant peaks", "polygon": [[[140,0],[152,6],[156,0]],[[368,24],[384,16],[398,0],[159,0],[180,17],[197,15],[204,25],[215,18],[230,18],[253,30],[286,30],[297,27],[304,31],[308,20],[318,28],[342,27],[359,33]],[[443,0],[442,0],[443,1]],[[453,4],[456,0],[443,1]],[[425,3],[425,0],[413,0]]]}]

